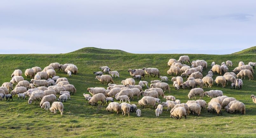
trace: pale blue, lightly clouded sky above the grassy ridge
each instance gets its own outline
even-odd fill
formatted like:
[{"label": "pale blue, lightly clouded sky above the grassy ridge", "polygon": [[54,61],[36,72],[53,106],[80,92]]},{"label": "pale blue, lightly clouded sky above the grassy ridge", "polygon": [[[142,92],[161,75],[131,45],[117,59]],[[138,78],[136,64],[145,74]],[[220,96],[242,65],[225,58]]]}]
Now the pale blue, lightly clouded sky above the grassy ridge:
[{"label": "pale blue, lightly clouded sky above the grassy ridge", "polygon": [[5,0],[0,54],[230,54],[256,45],[255,0]]}]

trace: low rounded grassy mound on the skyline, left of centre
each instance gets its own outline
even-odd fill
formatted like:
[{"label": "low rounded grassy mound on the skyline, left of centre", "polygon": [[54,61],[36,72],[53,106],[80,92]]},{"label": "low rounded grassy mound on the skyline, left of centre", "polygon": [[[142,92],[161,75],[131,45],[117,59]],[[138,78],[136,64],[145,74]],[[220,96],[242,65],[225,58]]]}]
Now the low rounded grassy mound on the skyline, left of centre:
[{"label": "low rounded grassy mound on the skyline, left of centre", "polygon": [[90,53],[90,54],[127,54],[128,52],[116,49],[98,49],[95,47],[85,47],[70,53]]}]

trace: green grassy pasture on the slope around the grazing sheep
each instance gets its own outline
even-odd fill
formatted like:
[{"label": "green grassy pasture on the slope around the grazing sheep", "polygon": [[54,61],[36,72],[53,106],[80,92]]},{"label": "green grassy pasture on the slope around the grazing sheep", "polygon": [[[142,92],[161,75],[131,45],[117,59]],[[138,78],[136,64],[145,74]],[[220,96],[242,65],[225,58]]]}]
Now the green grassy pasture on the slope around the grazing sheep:
[{"label": "green grassy pasture on the slope around the grazing sheep", "polygon": [[[131,113],[130,117],[121,114],[111,114],[106,111],[104,106],[91,106],[84,100],[83,93],[87,93],[88,87],[105,87],[101,82],[95,79],[93,71],[100,71],[100,66],[107,65],[111,70],[117,70],[120,78],[114,78],[116,84],[125,78],[131,77],[127,72],[129,68],[155,67],[160,70],[162,76],[168,76],[168,84],[171,86],[171,94],[176,99],[186,103],[188,99],[188,89],[180,89],[175,91],[172,87],[171,77],[166,72],[169,69],[167,62],[170,58],[178,59],[183,54],[132,54],[121,50],[104,50],[96,48],[84,48],[75,52],[66,54],[51,55],[0,55],[0,84],[9,82],[11,74],[15,69],[24,71],[27,68],[39,66],[42,69],[53,62],[60,64],[73,63],[78,67],[78,74],[67,78],[70,84],[73,84],[77,93],[71,96],[72,100],[68,100],[64,104],[64,114],[61,116],[53,114],[40,108],[39,103],[29,105],[27,100],[17,100],[17,96],[13,101],[0,101],[0,131],[1,137],[27,137],[27,138],[56,138],[56,137],[254,137],[256,133],[256,106],[250,99],[251,94],[255,93],[255,80],[248,80],[246,77],[244,87],[241,90],[230,89],[230,83],[226,88],[214,86],[212,88],[204,88],[204,91],[211,89],[222,90],[224,95],[235,97],[243,102],[246,106],[246,114],[228,114],[222,110],[223,115],[207,113],[206,109],[201,111],[199,117],[189,115],[187,120],[175,120],[170,117],[169,111],[164,112],[160,117],[155,117],[155,109],[147,106],[145,109],[138,106],[142,111],[142,117],[137,117],[135,113]],[[229,68],[231,72],[238,66],[239,61],[245,64],[254,62],[255,54],[231,54],[231,55],[191,55],[190,61],[203,59],[207,61],[208,68],[203,71],[205,76],[210,70],[210,64],[215,61],[221,64],[230,60],[233,67]],[[255,71],[255,70],[254,70]],[[63,72],[57,72],[60,77],[67,77]],[[253,74],[254,78],[256,75]],[[215,79],[216,75],[213,76]],[[145,80],[158,79],[157,77],[145,77]],[[30,80],[30,79],[26,79]],[[185,79],[184,79],[185,80]],[[139,81],[136,80],[136,84]],[[145,89],[145,88],[143,88]],[[88,94],[88,93],[87,93]],[[162,101],[165,101],[160,97]],[[209,97],[204,97],[208,103]],[[99,102],[100,103],[100,102]],[[137,97],[131,104],[137,104]]]}]

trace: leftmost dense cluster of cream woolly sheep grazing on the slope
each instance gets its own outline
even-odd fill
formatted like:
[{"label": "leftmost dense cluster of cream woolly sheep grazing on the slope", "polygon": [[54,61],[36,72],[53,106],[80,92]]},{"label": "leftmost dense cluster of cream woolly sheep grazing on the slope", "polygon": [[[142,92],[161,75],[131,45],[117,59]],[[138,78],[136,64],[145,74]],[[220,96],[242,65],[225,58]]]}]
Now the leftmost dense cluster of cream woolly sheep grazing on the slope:
[{"label": "leftmost dense cluster of cream woolly sheep grazing on the slope", "polygon": [[[66,77],[56,76],[55,70],[63,70],[69,77],[78,72],[78,68],[74,64],[51,63],[43,70],[40,67],[26,69],[24,75],[27,78],[30,77],[29,82],[24,80],[21,70],[14,70],[10,82],[4,82],[0,87],[0,100],[11,100],[17,94],[18,99],[22,98],[21,100],[26,100],[26,97],[29,97],[29,104],[41,100],[41,108],[49,109],[54,114],[59,111],[62,115],[64,109],[62,102],[71,99],[70,94],[76,93],[76,88],[69,83]],[[58,98],[57,95],[59,95]]]}]

